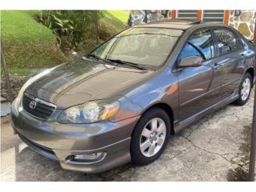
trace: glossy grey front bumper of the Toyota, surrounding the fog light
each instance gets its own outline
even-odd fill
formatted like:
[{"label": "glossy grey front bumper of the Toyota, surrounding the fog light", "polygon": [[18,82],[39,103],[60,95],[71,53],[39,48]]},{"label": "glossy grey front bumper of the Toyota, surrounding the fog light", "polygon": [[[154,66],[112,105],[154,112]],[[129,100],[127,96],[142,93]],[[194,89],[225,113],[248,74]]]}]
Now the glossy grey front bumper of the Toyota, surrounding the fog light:
[{"label": "glossy grey front bumper of the Toyota, surrounding the fog light", "polygon": [[[14,131],[31,149],[46,158],[58,160],[63,169],[99,173],[130,162],[130,136],[138,117],[120,122],[60,124],[61,111],[56,110],[45,122],[32,117],[12,104]],[[79,154],[105,155],[97,161],[74,162],[70,156]]]}]

